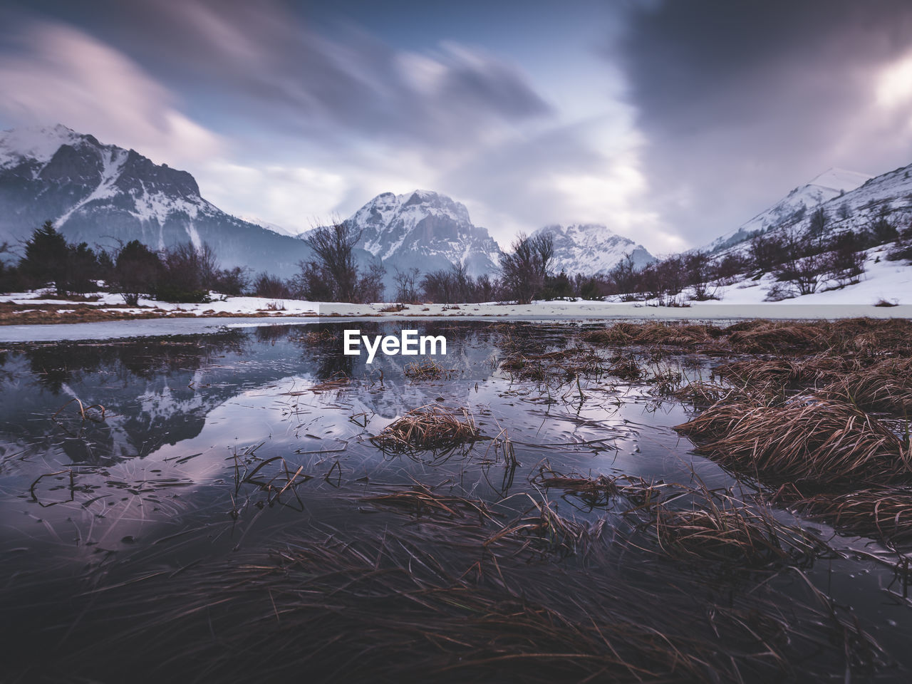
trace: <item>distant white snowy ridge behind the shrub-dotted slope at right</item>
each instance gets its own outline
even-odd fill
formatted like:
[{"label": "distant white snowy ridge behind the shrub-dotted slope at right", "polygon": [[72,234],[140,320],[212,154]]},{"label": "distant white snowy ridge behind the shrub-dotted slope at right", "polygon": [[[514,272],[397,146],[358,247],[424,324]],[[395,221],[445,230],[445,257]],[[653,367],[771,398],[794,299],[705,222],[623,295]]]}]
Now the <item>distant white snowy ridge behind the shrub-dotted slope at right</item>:
[{"label": "distant white snowy ridge behind the shrub-dotted slope at right", "polygon": [[766,211],[758,213],[747,223],[742,223],[737,230],[713,240],[703,251],[721,252],[750,240],[758,233],[786,224],[800,223],[816,207],[831,202],[846,192],[852,192],[870,179],[870,176],[857,171],[827,169],[812,181],[793,189]]}]

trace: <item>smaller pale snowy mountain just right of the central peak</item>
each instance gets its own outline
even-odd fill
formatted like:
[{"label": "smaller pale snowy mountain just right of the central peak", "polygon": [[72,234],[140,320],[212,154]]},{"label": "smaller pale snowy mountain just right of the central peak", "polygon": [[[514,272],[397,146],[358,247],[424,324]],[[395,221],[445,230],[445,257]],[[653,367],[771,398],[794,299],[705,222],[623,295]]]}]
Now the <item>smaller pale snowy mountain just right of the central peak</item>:
[{"label": "smaller pale snowy mountain just right of the central peak", "polygon": [[643,245],[623,235],[612,233],[600,223],[546,225],[533,235],[544,233],[552,235],[554,239],[554,272],[564,271],[567,275],[606,274],[627,254],[631,256],[637,268],[656,260]]}]

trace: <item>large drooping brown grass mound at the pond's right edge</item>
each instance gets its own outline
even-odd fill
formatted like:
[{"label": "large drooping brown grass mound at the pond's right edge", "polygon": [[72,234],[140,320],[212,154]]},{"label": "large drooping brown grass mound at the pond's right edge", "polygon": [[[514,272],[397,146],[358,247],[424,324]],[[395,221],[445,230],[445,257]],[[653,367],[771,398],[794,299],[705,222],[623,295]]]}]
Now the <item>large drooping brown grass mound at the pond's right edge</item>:
[{"label": "large drooping brown grass mound at the pond's right edge", "polygon": [[716,404],[675,430],[723,465],[774,480],[819,484],[912,478],[908,446],[851,404],[793,401],[783,407]]}]

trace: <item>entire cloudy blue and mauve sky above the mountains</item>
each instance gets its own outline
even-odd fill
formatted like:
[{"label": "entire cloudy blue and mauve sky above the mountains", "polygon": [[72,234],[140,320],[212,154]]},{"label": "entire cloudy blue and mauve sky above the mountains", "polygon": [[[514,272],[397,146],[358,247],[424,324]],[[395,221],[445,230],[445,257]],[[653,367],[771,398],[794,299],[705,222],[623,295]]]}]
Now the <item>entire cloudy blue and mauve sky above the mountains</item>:
[{"label": "entire cloudy blue and mauve sky above the mountains", "polygon": [[0,93],[0,129],[291,231],[422,188],[504,246],[604,223],[670,254],[912,162],[912,2],[0,0]]}]

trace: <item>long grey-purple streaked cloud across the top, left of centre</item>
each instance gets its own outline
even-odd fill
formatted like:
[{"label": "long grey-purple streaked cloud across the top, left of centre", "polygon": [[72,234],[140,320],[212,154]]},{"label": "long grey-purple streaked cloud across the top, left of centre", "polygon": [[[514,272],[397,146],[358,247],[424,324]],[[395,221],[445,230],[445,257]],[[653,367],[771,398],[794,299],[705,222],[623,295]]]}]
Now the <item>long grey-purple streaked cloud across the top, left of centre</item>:
[{"label": "long grey-purple streaked cloud across the top, left of centre", "polygon": [[478,47],[410,53],[353,26],[330,36],[268,1],[111,6],[119,40],[169,83],[202,91],[225,116],[339,146],[454,149],[552,112],[517,67]]}]

